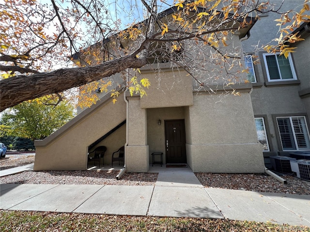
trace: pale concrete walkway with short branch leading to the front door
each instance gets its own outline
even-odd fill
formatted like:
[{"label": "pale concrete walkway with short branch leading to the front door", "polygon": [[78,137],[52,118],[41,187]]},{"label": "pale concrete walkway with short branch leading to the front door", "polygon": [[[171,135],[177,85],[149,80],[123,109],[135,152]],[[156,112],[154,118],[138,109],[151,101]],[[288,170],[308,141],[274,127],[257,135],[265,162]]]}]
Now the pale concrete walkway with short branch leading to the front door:
[{"label": "pale concrete walkway with short branch leading to the front door", "polygon": [[151,167],[150,172],[158,172],[155,186],[1,184],[0,209],[310,226],[308,195],[203,188],[189,168]]}]

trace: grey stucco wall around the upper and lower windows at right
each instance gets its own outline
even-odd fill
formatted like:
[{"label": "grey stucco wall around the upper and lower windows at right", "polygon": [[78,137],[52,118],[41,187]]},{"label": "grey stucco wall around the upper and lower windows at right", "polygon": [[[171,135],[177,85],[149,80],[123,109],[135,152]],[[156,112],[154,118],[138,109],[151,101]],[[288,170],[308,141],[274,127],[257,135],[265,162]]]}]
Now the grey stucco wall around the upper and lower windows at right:
[{"label": "grey stucco wall around the upper and lower windows at right", "polygon": [[[268,136],[269,148],[271,152],[281,151],[278,126],[276,125],[273,116],[306,116],[310,115],[310,94],[299,96],[301,90],[306,90],[310,93],[309,71],[305,67],[308,66],[307,57],[310,58],[310,37],[305,41],[294,44],[297,46],[296,52],[293,53],[294,70],[297,74],[299,83],[291,84],[289,82],[281,82],[276,86],[265,86],[266,73],[264,70],[263,60],[257,65],[256,76],[261,86],[254,87],[251,94],[253,111],[255,116],[264,116],[266,131]],[[260,53],[260,55],[262,52]],[[308,89],[308,90],[307,90]]]}]

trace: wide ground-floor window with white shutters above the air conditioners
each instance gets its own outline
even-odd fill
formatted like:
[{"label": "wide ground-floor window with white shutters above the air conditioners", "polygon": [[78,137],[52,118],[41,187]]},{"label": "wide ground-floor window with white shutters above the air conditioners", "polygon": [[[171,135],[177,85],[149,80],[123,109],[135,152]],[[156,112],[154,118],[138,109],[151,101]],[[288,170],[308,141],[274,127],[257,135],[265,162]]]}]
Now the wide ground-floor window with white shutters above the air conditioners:
[{"label": "wide ground-floor window with white shutters above the air conditioners", "polygon": [[310,149],[305,116],[277,117],[277,123],[283,151]]}]

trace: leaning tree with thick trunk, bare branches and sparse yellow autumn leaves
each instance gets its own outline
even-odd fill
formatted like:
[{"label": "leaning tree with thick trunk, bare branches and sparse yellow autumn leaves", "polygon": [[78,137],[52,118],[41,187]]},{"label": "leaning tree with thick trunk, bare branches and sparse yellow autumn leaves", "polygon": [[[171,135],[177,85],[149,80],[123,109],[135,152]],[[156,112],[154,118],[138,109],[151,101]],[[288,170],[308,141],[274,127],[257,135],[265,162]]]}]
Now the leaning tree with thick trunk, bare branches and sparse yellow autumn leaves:
[{"label": "leaning tree with thick trunk, bare branches and sparse yellow autumn leaves", "polygon": [[[291,32],[310,19],[309,2],[281,12],[281,4],[263,0],[4,0],[0,109],[47,94],[70,96],[62,92],[73,87],[90,93],[93,85],[84,85],[135,69],[126,72],[131,80],[148,63],[186,70],[198,89],[231,85],[245,69],[240,49],[226,48],[232,36],[262,12],[279,14],[279,38],[265,49],[288,56],[294,48],[286,41],[300,40]],[[77,67],[68,67],[69,59]]]}]

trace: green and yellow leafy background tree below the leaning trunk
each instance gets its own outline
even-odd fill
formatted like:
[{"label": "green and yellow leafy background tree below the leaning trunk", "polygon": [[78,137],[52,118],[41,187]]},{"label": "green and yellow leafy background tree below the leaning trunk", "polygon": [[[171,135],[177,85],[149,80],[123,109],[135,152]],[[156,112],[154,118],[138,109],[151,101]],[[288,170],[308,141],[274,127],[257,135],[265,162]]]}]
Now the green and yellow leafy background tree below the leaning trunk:
[{"label": "green and yellow leafy background tree below the leaning trunk", "polygon": [[22,102],[4,111],[1,137],[11,135],[31,140],[44,139],[74,117],[72,104],[62,101],[54,106],[58,100],[46,100],[45,97]]}]

